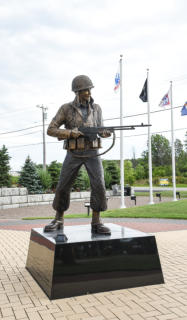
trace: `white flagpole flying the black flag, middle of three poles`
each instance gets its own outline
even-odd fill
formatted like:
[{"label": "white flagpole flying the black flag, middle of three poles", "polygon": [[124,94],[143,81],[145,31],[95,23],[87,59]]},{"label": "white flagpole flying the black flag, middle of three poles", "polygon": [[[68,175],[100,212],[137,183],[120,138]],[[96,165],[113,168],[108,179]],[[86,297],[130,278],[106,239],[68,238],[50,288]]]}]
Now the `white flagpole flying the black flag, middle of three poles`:
[{"label": "white flagpole flying the black flag, middle of three poles", "polygon": [[[148,115],[148,124],[150,124],[149,69],[147,69],[147,115]],[[149,165],[149,204],[154,204],[153,184],[152,184],[152,152],[151,152],[151,128],[150,128],[150,126],[148,126],[148,165]]]}]

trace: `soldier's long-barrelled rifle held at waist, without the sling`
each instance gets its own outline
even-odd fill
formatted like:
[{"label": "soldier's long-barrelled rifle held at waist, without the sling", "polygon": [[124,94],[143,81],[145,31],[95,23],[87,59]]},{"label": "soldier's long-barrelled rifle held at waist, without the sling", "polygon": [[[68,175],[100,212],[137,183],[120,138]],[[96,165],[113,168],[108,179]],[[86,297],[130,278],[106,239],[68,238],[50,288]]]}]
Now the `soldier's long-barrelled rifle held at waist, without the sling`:
[{"label": "soldier's long-barrelled rifle held at waist, without the sling", "polygon": [[80,127],[78,131],[82,132],[85,138],[93,141],[97,138],[97,135],[102,134],[103,131],[107,130],[114,134],[116,130],[134,130],[135,128],[150,127],[151,124],[135,124],[128,126],[113,126],[113,127]]}]

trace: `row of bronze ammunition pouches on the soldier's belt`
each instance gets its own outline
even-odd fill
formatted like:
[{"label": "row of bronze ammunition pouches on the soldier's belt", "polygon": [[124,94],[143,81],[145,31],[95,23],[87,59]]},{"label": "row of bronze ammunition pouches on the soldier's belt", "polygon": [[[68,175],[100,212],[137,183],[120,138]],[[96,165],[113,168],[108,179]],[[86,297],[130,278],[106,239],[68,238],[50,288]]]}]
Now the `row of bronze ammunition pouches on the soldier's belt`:
[{"label": "row of bronze ammunition pouches on the soldier's belt", "polygon": [[99,148],[102,148],[100,138],[89,140],[84,137],[78,137],[76,139],[70,138],[64,141],[64,149],[66,150],[90,150]]}]

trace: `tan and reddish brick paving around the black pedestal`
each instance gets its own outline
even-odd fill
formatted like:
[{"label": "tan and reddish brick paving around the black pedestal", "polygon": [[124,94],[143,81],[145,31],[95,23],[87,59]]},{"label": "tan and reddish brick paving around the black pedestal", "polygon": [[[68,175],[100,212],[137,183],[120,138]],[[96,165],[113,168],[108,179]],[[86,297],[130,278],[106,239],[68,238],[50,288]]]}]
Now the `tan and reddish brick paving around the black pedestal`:
[{"label": "tan and reddish brick paving around the black pedestal", "polygon": [[[34,209],[36,214],[38,207]],[[9,210],[4,211],[8,219],[0,214],[0,320],[187,320],[187,221],[109,220],[141,231],[157,232],[164,284],[50,301],[25,269],[28,231],[45,225],[48,220],[23,221],[19,212],[15,219]],[[66,225],[89,222],[88,219],[66,220]]]}]

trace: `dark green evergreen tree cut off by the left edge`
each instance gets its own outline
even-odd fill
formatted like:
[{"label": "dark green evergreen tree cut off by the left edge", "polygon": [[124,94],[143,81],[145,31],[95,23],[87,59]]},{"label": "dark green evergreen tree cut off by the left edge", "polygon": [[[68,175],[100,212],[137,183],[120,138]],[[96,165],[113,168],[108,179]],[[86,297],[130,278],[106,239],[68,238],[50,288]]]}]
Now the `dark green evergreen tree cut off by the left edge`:
[{"label": "dark green evergreen tree cut off by the left edge", "polygon": [[9,160],[10,156],[8,155],[8,149],[3,145],[0,149],[0,187],[11,186]]}]

